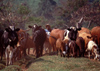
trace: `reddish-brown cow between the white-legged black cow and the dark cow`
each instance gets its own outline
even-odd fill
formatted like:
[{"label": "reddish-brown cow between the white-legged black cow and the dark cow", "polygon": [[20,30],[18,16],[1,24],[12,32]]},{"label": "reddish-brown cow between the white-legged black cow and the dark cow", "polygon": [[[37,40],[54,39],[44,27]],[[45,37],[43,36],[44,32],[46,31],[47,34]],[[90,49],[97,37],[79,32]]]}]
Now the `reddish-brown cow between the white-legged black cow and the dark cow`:
[{"label": "reddish-brown cow between the white-legged black cow and the dark cow", "polygon": [[19,47],[19,58],[21,58],[23,55],[26,55],[26,49],[28,49],[28,54],[30,48],[35,49],[35,44],[33,43],[32,37],[29,36],[28,33],[26,33],[25,30],[20,29],[20,31],[17,33],[18,34],[18,46]]}]

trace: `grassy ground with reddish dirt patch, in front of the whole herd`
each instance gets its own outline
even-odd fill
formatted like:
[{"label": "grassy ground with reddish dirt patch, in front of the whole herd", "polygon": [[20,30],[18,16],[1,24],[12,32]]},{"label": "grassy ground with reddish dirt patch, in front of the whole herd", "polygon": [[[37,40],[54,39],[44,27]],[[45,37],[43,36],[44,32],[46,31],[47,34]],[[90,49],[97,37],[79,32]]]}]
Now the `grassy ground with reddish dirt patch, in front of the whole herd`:
[{"label": "grassy ground with reddish dirt patch, in front of the whole herd", "polygon": [[36,59],[35,56],[29,55],[8,67],[5,66],[4,60],[0,62],[0,69],[2,71],[100,71],[100,62],[83,57],[63,58],[47,54]]}]

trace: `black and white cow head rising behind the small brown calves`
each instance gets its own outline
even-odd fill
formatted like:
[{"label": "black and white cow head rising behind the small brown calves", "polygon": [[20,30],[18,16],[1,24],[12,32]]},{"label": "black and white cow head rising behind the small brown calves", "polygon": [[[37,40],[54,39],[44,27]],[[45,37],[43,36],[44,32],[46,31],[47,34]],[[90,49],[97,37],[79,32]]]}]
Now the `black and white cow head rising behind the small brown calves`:
[{"label": "black and white cow head rising behind the small brown calves", "polygon": [[64,36],[67,36],[70,40],[76,40],[79,30],[81,30],[81,28],[70,27],[67,29],[67,34]]}]

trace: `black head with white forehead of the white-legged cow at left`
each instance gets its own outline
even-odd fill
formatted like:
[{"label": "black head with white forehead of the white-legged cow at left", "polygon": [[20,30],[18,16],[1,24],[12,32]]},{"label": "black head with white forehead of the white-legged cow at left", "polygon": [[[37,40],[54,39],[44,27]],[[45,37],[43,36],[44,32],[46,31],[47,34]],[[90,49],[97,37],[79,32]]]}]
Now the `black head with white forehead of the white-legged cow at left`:
[{"label": "black head with white forehead of the white-legged cow at left", "polygon": [[9,26],[5,30],[6,30],[6,32],[8,32],[8,38],[10,39],[10,41],[15,41],[17,38],[16,32],[18,32],[20,29],[19,28],[15,29],[14,26]]}]

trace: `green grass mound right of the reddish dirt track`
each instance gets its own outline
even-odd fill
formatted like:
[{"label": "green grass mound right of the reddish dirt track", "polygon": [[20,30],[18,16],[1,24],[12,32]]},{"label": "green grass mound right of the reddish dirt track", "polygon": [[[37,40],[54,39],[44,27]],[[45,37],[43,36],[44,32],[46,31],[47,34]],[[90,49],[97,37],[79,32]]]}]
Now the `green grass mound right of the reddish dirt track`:
[{"label": "green grass mound right of the reddish dirt track", "polygon": [[43,56],[32,61],[28,71],[99,71],[100,63],[88,58]]}]

